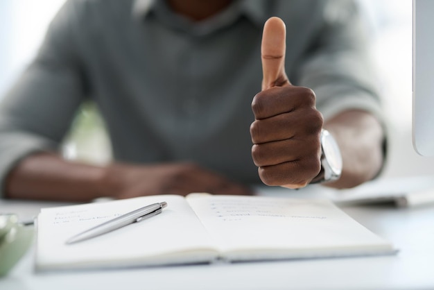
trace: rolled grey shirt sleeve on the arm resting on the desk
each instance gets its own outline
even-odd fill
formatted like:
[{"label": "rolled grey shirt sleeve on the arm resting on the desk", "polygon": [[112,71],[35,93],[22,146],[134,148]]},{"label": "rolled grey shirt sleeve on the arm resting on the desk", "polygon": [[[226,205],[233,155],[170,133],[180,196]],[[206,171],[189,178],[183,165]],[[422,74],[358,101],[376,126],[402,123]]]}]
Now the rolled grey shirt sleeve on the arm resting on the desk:
[{"label": "rolled grey shirt sleeve on the arm resting on the desk", "polygon": [[84,99],[74,2],[67,1],[54,17],[35,60],[0,103],[0,196],[19,160],[58,150]]}]

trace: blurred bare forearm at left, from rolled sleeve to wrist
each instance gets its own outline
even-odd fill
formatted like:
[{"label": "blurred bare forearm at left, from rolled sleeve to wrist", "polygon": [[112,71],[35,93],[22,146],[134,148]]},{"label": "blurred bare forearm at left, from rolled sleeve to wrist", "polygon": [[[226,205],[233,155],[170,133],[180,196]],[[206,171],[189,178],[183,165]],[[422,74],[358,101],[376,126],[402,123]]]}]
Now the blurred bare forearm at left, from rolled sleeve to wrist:
[{"label": "blurred bare forearm at left, from rolled sleeve to wrist", "polygon": [[6,198],[51,201],[91,201],[110,196],[105,169],[40,153],[30,155],[12,169],[6,180]]}]

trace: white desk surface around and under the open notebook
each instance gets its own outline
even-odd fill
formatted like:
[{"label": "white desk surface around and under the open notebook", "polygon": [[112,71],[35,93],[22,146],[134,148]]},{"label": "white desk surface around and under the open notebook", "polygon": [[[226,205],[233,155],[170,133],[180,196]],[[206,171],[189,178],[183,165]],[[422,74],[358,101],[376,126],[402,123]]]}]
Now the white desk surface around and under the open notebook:
[{"label": "white desk surface around and under the open notebook", "polygon": [[[58,203],[0,201],[23,219]],[[0,289],[434,289],[434,206],[343,206],[356,221],[392,241],[392,256],[209,264],[110,271],[34,273],[33,249]]]}]

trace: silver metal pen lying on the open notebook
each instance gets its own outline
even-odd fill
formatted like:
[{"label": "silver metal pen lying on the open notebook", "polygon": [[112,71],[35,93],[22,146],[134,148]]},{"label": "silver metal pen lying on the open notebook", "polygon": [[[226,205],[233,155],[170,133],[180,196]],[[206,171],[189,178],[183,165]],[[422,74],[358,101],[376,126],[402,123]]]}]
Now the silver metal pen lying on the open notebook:
[{"label": "silver metal pen lying on the open notebook", "polygon": [[98,237],[101,234],[106,234],[107,232],[112,232],[113,230],[122,228],[125,225],[130,225],[131,223],[137,223],[138,221],[148,219],[151,216],[161,213],[163,208],[166,206],[167,203],[162,202],[141,207],[138,210],[128,212],[127,214],[118,216],[115,219],[101,223],[101,225],[96,225],[94,228],[89,228],[89,230],[85,230],[85,232],[80,232],[80,234],[76,234],[75,236],[69,238],[66,241],[66,244],[74,244],[86,239],[92,239],[93,237]]}]

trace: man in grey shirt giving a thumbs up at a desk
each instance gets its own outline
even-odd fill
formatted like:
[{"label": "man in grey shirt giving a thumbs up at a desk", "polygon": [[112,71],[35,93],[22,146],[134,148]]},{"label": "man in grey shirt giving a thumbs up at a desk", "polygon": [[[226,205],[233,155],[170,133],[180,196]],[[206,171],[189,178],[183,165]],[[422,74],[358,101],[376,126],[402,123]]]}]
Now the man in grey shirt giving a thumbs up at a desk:
[{"label": "man in grey shirt giving a thumbs up at a desk", "polygon": [[[351,1],[67,1],[1,106],[3,196],[304,187],[324,175],[322,128],[343,159],[326,184],[370,180],[385,138],[363,33]],[[111,137],[106,167],[56,153],[86,99]]]}]

